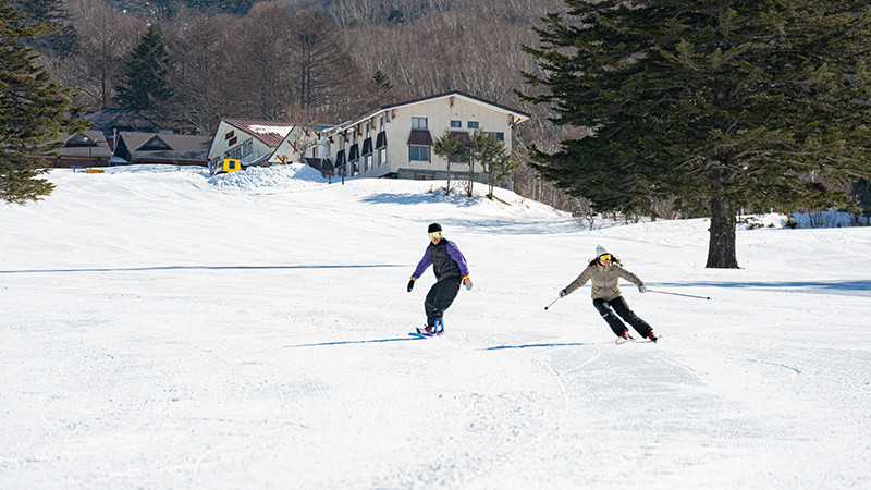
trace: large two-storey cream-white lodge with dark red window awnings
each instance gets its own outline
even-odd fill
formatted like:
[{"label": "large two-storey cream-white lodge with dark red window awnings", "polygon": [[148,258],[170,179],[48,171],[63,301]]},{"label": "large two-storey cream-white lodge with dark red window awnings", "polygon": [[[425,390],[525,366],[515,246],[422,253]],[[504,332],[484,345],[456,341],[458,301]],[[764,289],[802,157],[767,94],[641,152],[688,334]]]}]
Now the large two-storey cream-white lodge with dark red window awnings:
[{"label": "large two-storey cream-white lodge with dark red window awnings", "polygon": [[[468,138],[476,130],[498,137],[511,152],[515,124],[529,114],[459,91],[385,106],[338,126],[287,135],[271,163],[307,162],[333,175],[446,179],[447,162],[432,146],[445,130]],[[309,126],[311,127],[311,126]],[[451,163],[451,173],[468,174],[468,163]],[[474,169],[480,176],[483,169]]]}]

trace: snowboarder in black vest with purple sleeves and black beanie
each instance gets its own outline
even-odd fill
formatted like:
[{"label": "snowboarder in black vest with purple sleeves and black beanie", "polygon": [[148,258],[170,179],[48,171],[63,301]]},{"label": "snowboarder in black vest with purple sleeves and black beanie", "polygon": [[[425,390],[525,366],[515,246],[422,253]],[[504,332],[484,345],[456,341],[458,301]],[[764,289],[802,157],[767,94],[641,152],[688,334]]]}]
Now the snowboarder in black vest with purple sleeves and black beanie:
[{"label": "snowboarder in black vest with purple sleeves and black beanie", "polygon": [[425,335],[441,335],[444,332],[442,315],[451,306],[459,292],[459,284],[464,284],[466,290],[471,290],[471,279],[469,268],[466,265],[466,257],[457,248],[456,244],[442,237],[442,226],[439,223],[429,225],[430,244],[424,258],[417,264],[412,280],[408,281],[408,292],[415,286],[415,281],[431,265],[436,273],[436,284],[430,287],[427,299],[424,302],[424,310],[427,313],[427,326],[419,327],[417,333]]}]

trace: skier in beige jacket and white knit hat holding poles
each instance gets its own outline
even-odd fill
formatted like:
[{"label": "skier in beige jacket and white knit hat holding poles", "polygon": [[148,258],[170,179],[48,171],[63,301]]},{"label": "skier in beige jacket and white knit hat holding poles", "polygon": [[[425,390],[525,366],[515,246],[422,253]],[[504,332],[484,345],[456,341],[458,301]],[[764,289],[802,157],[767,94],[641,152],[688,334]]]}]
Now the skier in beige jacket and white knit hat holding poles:
[{"label": "skier in beige jacket and white knit hat holding poles", "polygon": [[647,286],[643,281],[638,279],[638,275],[624,269],[623,264],[616,257],[601,245],[597,245],[596,258],[590,261],[589,266],[584,269],[584,272],[577,279],[572,281],[563,291],[560,291],[560,297],[572,294],[575,290],[586,284],[587,281],[591,281],[592,305],[599,310],[599,314],[608,324],[611,326],[611,330],[617,335],[618,344],[633,340],[633,338],[629,335],[629,329],[617,318],[617,315],[633,326],[642,338],[657,342],[657,335],[653,334],[653,329],[650,328],[650,324],[633,313],[626,299],[623,298],[623,293],[621,293],[617,285],[619,278],[637,285],[638,291],[641,293],[647,293]]}]

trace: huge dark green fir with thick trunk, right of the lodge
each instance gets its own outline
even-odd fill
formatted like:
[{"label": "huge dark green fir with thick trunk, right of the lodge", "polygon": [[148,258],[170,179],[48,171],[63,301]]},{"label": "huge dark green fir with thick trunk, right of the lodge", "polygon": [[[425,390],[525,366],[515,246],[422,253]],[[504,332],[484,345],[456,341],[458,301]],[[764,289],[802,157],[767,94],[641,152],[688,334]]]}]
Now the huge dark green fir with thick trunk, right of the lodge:
[{"label": "huge dark green fir with thick trunk, right of the lodge", "polygon": [[[565,0],[525,47],[527,100],[592,135],[536,167],[599,209],[654,197],[711,215],[707,267],[738,267],[740,206],[843,199],[867,175],[867,0]],[[543,88],[543,90],[542,90]]]}]

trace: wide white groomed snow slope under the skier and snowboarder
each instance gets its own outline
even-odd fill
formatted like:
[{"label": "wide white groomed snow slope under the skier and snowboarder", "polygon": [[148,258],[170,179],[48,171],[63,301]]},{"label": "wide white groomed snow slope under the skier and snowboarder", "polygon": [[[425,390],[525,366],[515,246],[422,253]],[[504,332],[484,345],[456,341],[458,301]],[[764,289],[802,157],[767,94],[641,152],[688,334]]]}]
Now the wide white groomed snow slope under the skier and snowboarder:
[{"label": "wide white groomed snow slope under the skier and snowboarder", "polygon": [[[704,220],[309,170],[56,170],[0,207],[0,488],[871,487],[871,229],[741,230],[710,270]],[[433,221],[475,287],[415,340]],[[625,285],[659,344],[589,285],[545,311],[597,244],[712,299]]]}]

